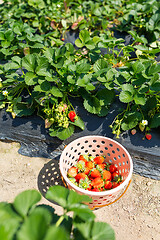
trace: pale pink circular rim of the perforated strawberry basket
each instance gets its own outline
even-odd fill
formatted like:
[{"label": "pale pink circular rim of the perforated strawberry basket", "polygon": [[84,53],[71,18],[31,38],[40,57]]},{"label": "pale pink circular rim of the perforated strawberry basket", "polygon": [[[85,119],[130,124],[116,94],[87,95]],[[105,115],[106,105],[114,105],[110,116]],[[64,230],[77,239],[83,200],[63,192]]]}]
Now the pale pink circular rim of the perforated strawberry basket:
[{"label": "pale pink circular rim of the perforated strawberry basket", "polygon": [[[67,149],[70,147],[71,144],[73,143],[76,143],[78,142],[79,140],[83,140],[83,139],[89,139],[89,138],[99,138],[99,139],[105,139],[105,140],[109,140],[113,143],[116,143],[117,145],[119,145],[124,151],[125,153],[127,154],[128,158],[129,158],[129,161],[130,161],[130,171],[129,171],[129,174],[127,176],[127,178],[124,180],[124,182],[122,182],[119,186],[117,186],[116,188],[113,188],[113,189],[110,189],[110,190],[106,190],[106,191],[102,191],[102,192],[92,192],[92,191],[89,191],[89,190],[85,190],[85,189],[82,189],[80,187],[77,187],[74,183],[72,183],[71,181],[69,181],[68,177],[66,176],[64,170],[63,170],[63,156],[65,154],[65,152],[67,151]],[[81,192],[82,194],[85,194],[85,195],[90,195],[90,196],[97,196],[97,197],[101,197],[101,196],[106,196],[106,195],[110,195],[110,194],[114,194],[116,192],[119,192],[120,190],[122,190],[125,186],[127,186],[129,184],[129,181],[131,180],[131,177],[132,177],[132,173],[133,173],[133,161],[132,161],[132,158],[128,152],[128,150],[123,147],[119,142],[113,140],[112,138],[109,138],[109,137],[104,137],[104,136],[99,136],[99,135],[88,135],[88,136],[84,136],[84,137],[80,137],[80,138],[77,138],[75,140],[73,140],[72,142],[70,142],[66,147],[65,149],[62,151],[62,154],[60,156],[60,159],[59,159],[59,168],[60,168],[60,172],[61,172],[61,175],[62,177],[64,178],[64,180],[66,181],[66,183],[68,183],[73,189],[75,189],[76,191],[78,192]]]}]

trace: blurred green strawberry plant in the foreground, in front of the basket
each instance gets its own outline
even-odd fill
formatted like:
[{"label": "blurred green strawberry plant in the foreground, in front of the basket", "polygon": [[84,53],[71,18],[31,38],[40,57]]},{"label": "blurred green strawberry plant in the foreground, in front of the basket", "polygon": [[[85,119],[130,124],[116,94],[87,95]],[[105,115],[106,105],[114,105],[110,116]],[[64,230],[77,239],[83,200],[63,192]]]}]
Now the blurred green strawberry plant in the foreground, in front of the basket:
[{"label": "blurred green strawberry plant in the foreground, in front of the basket", "polygon": [[[109,224],[96,222],[95,214],[84,205],[91,199],[62,186],[53,186],[46,198],[59,204],[63,213],[39,204],[41,195],[37,190],[26,190],[16,196],[13,203],[0,203],[0,238],[22,239],[97,239],[114,240],[115,234]],[[68,213],[72,213],[72,217]],[[87,232],[86,232],[87,229]]]}]

